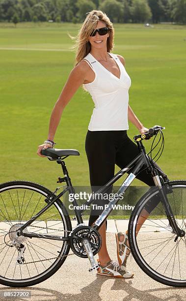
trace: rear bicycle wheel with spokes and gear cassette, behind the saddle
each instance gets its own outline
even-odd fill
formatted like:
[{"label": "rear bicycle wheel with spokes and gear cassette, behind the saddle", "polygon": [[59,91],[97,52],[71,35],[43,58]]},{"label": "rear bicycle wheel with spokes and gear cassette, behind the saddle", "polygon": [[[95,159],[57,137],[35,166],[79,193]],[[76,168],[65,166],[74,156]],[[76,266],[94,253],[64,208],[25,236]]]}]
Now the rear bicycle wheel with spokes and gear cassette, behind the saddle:
[{"label": "rear bicycle wheel with spokes and gear cassette, behind the saddle", "polygon": [[[18,248],[11,247],[16,231],[47,205],[51,191],[36,183],[12,181],[0,185],[0,284],[24,287],[40,283],[53,275],[69,253],[67,241],[19,237],[26,246],[24,263],[16,264]],[[58,199],[24,232],[68,237],[71,221]],[[64,256],[62,258],[56,258]],[[53,259],[51,259],[53,258]]]}]

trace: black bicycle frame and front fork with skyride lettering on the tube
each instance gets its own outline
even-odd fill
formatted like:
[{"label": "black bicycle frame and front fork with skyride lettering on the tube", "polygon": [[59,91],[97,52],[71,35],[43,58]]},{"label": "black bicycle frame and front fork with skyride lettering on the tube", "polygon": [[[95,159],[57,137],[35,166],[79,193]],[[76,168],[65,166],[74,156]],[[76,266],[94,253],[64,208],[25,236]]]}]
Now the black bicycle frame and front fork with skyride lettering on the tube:
[{"label": "black bicycle frame and front fork with skyride lettering on the tube", "polygon": [[[140,169],[142,167],[146,167],[147,172],[149,174],[151,174],[151,176],[153,177],[153,180],[155,182],[155,186],[158,186],[158,188],[159,188],[159,192],[160,192],[160,196],[161,196],[161,203],[162,203],[162,205],[165,209],[165,212],[167,214],[167,218],[169,220],[169,223],[172,226],[172,228],[174,229],[174,231],[176,232],[177,236],[180,236],[182,234],[181,229],[178,228],[178,226],[176,224],[176,220],[174,218],[174,215],[173,215],[173,212],[171,210],[170,204],[168,202],[166,194],[164,194],[164,191],[162,189],[161,182],[159,180],[158,170],[152,166],[152,164],[150,162],[150,159],[149,159],[149,157],[148,157],[148,155],[145,151],[145,148],[142,144],[142,141],[137,141],[137,145],[138,145],[138,149],[139,149],[139,154],[126,167],[121,169],[110,181],[108,181],[103,187],[101,187],[99,190],[97,190],[96,194],[104,193],[109,187],[111,187],[113,185],[113,183],[115,183],[126,172],[128,172],[129,169],[132,169],[131,173],[126,178],[126,180],[122,183],[122,185],[120,186],[120,188],[118,189],[116,194],[119,195],[120,193],[124,193],[126,191],[126,189],[129,187],[129,185],[131,184],[131,182],[135,179],[135,177],[136,177],[137,173],[140,171]],[[62,166],[63,173],[64,173],[65,177],[62,178],[61,180],[66,181],[67,187],[61,193],[59,193],[58,195],[55,195],[55,192],[57,191],[57,189],[56,189],[52,193],[52,195],[48,196],[45,200],[47,202],[47,206],[45,206],[41,211],[39,211],[30,220],[28,220],[21,228],[19,228],[19,230],[17,231],[18,236],[23,235],[25,237],[30,237],[30,238],[35,237],[35,238],[43,238],[43,239],[51,239],[51,240],[59,240],[59,241],[68,241],[69,240],[68,237],[52,236],[52,235],[45,235],[45,234],[35,234],[35,233],[24,233],[23,232],[23,230],[27,226],[29,226],[36,218],[38,218],[43,212],[48,210],[48,208],[50,208],[55,201],[59,200],[59,198],[64,193],[66,193],[67,191],[69,191],[69,193],[71,193],[71,194],[75,193],[74,187],[72,186],[72,183],[71,183],[71,179],[68,175],[68,171],[67,171],[65,162],[62,161],[62,159],[60,159],[60,160],[57,161],[57,163],[61,164],[61,166]],[[163,172],[161,172],[161,175],[167,180],[167,177]],[[85,206],[90,205],[94,201],[95,201],[95,199],[92,197],[89,201],[85,202],[83,205],[85,205]],[[113,205],[116,205],[118,201],[119,201],[119,197],[114,199],[113,201],[109,201],[108,207],[102,212],[102,214],[94,222],[93,228],[95,228],[96,230],[99,230],[99,228],[101,227],[101,225],[103,224],[103,222],[105,221],[107,216],[113,210]],[[74,211],[75,211],[75,214],[76,214],[78,224],[82,224],[83,220],[82,220],[82,214],[81,213],[85,210],[77,210],[76,209],[76,207],[78,206],[78,204],[76,202],[76,199],[74,199],[72,201],[72,203],[73,203],[73,208],[74,208]],[[61,202],[61,205],[62,205],[62,202]]]}]

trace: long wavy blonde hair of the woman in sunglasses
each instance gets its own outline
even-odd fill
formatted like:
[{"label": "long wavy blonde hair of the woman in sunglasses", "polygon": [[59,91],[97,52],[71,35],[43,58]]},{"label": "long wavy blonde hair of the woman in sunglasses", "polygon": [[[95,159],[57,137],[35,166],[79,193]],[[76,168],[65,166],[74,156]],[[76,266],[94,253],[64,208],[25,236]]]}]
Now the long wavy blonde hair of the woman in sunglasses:
[{"label": "long wavy blonde hair of the woman in sunglasses", "polygon": [[109,37],[107,38],[107,52],[110,52],[114,48],[114,28],[106,13],[101,10],[91,10],[86,13],[86,19],[84,20],[77,36],[68,35],[71,39],[75,39],[75,45],[70,49],[76,49],[75,66],[90,52],[91,44],[88,40],[90,34],[96,29],[98,21],[105,22],[106,27],[109,29]]}]

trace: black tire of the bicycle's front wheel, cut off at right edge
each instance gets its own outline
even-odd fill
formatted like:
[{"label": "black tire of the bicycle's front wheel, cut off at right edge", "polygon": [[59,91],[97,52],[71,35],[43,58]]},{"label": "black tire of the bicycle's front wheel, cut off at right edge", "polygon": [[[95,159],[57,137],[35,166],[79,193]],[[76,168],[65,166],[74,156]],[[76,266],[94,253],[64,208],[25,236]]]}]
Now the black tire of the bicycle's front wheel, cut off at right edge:
[{"label": "black tire of the bicycle's front wheel, cut off at right edge", "polygon": [[[173,188],[173,189],[174,188],[179,188],[179,187],[180,188],[181,187],[182,188],[183,187],[186,188],[186,181],[185,180],[170,181],[169,183],[171,185],[171,188]],[[138,246],[139,243],[137,244],[137,237],[138,237],[138,235],[135,236],[135,229],[136,229],[136,224],[137,224],[137,222],[136,222],[137,218],[140,215],[140,212],[142,211],[142,209],[145,206],[145,204],[147,204],[147,201],[152,197],[152,193],[158,193],[157,191],[158,191],[158,189],[157,189],[156,186],[153,187],[153,188],[150,188],[140,198],[140,200],[137,202],[137,204],[135,205],[135,208],[134,208],[134,210],[132,212],[132,215],[131,215],[130,220],[129,220],[129,230],[128,230],[128,232],[129,232],[129,244],[130,244],[130,247],[131,247],[131,252],[132,252],[133,258],[134,258],[135,262],[137,263],[137,265],[141,268],[142,271],[144,271],[152,279],[154,279],[154,280],[156,280],[156,281],[158,281],[158,282],[160,282],[162,284],[168,285],[168,286],[186,287],[186,278],[180,279],[180,280],[178,280],[178,279],[175,280],[175,279],[172,279],[170,277],[163,276],[162,274],[159,274],[152,267],[150,267],[149,264],[146,262],[146,259],[144,259],[144,257],[142,257],[142,255],[141,255],[141,251],[140,251],[139,246]],[[185,220],[185,218],[184,218],[184,220]],[[183,226],[184,226],[184,224],[183,224]],[[144,230],[142,230],[142,231],[144,231]],[[153,231],[151,231],[151,232],[153,232]],[[155,243],[156,242],[157,241],[155,241]],[[156,244],[158,244],[158,243],[156,243]]]}]

